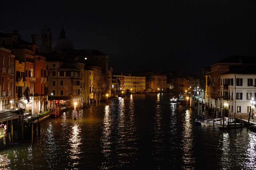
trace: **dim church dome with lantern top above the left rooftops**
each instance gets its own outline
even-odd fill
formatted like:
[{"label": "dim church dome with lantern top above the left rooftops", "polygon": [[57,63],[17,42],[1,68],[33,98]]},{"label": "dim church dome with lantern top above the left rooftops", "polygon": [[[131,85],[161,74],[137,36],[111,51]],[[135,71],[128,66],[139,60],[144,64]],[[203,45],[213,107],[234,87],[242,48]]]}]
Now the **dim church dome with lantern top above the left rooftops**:
[{"label": "dim church dome with lantern top above the left rooftops", "polygon": [[65,33],[65,30],[61,29],[60,37],[52,45],[53,51],[71,51],[74,49],[71,41],[66,39]]}]

